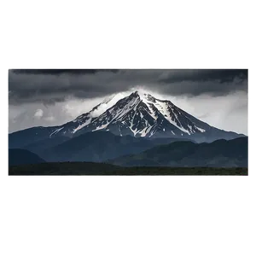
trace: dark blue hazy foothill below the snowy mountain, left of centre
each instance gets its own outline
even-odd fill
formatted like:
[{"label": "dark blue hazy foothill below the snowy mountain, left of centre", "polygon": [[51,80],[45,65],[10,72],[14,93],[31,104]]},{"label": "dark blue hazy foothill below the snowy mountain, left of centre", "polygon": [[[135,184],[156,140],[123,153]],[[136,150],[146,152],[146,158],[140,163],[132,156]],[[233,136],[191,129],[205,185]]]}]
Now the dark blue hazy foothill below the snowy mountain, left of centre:
[{"label": "dark blue hazy foothill below the snowy mountain, left of centre", "polygon": [[26,146],[49,162],[93,161],[102,162],[125,154],[137,154],[159,144],[172,143],[175,139],[165,142],[155,139],[136,138],[131,136],[115,136],[109,131],[87,132],[73,137],[66,142],[45,148],[49,139]]}]

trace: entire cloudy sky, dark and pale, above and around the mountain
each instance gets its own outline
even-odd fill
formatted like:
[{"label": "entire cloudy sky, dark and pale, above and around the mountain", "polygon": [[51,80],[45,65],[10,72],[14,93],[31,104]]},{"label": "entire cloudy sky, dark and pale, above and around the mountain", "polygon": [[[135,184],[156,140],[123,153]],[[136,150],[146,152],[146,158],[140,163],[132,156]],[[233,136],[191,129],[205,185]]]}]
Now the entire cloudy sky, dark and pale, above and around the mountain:
[{"label": "entire cloudy sky, dark and pale, above and around the mountain", "polygon": [[248,135],[252,70],[246,61],[8,61],[8,111],[0,117],[9,132],[62,125],[109,95],[142,90],[209,125]]}]

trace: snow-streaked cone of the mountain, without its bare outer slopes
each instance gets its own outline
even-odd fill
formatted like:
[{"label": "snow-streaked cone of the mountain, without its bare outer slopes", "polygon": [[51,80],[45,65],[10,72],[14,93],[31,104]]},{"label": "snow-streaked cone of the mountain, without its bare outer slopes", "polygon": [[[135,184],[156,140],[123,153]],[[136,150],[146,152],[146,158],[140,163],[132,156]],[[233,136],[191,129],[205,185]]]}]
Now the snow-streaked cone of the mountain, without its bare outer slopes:
[{"label": "snow-streaked cone of the mountain, without its bare outer slopes", "polygon": [[79,136],[89,131],[110,131],[134,137],[194,137],[210,131],[212,126],[177,108],[172,102],[134,91],[108,96],[89,113],[58,127],[51,137]]}]

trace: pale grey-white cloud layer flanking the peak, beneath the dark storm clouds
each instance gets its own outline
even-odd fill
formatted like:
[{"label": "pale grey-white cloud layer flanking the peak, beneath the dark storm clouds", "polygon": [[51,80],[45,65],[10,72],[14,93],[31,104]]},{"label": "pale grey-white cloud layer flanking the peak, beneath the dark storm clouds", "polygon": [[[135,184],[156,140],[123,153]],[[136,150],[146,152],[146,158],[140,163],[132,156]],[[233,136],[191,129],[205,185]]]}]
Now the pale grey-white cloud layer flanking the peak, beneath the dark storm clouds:
[{"label": "pale grey-white cloud layer flanking the peak, beneath the dark storm clouds", "polygon": [[[247,134],[247,92],[237,91],[227,96],[215,97],[207,94],[189,97],[154,93],[152,90],[147,90],[147,92],[156,98],[172,101],[178,108],[182,108],[187,113],[207,122],[209,125],[225,131]],[[63,125],[76,119],[80,114],[89,112],[101,103],[103,99],[96,98],[85,101],[72,99],[66,102],[57,102],[52,106],[46,106],[38,102],[24,103],[22,108],[17,105],[9,105],[8,130],[13,132],[33,126]],[[35,109],[44,111],[44,116],[41,119],[33,118]],[[252,126],[251,124],[250,127]]]}]

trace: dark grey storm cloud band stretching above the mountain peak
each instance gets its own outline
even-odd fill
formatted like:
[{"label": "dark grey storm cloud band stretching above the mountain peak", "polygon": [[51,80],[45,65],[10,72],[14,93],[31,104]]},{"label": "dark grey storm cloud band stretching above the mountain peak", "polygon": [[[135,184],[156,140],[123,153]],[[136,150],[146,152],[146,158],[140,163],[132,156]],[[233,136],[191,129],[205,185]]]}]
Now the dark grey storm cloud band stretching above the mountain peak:
[{"label": "dark grey storm cloud band stretching above the mountain peak", "polygon": [[[9,102],[13,104],[21,102],[50,104],[64,101],[70,96],[90,99],[131,90],[136,86],[143,86],[145,89],[173,96],[198,96],[201,94],[221,96],[236,90],[247,90],[247,83],[245,83],[247,69],[224,69],[224,67],[229,67],[227,62],[211,62],[211,64],[193,62],[191,64],[191,62],[183,61],[131,61],[123,62],[124,68],[119,69],[118,72],[112,72],[111,68],[107,70],[106,67],[111,65],[101,62],[94,68],[94,72],[90,71],[89,73],[86,71],[85,73],[76,73],[76,70],[79,70],[79,64],[73,62],[55,64],[55,67],[62,65],[62,69],[58,69],[58,72],[51,72],[49,68],[48,73],[45,73],[46,71],[43,71],[42,68],[37,73],[27,72],[27,68],[24,68],[23,71],[21,68],[20,72],[9,72]],[[89,67],[88,61],[86,63]],[[114,63],[117,67],[116,62]],[[29,67],[29,65],[35,64],[26,63],[25,66]],[[40,65],[43,67],[42,64]],[[53,64],[48,62],[47,65],[45,63],[44,65],[49,67]],[[65,65],[69,67],[69,72],[65,72]],[[102,68],[99,68],[100,66]],[[192,66],[194,67],[188,71],[188,67]],[[207,66],[212,69],[207,70]],[[240,67],[246,67],[246,65],[243,64]]]}]

